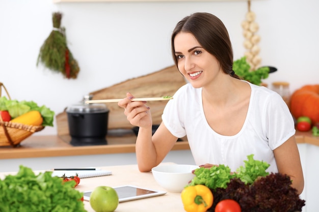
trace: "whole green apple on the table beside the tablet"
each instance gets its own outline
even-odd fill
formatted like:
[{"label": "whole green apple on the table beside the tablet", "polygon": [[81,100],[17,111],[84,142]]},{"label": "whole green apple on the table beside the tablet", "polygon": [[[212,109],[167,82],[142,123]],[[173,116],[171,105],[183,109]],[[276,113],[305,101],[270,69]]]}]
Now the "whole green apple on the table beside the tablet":
[{"label": "whole green apple on the table beside the tablet", "polygon": [[113,212],[118,204],[119,197],[112,187],[98,186],[90,195],[90,205],[96,212]]}]

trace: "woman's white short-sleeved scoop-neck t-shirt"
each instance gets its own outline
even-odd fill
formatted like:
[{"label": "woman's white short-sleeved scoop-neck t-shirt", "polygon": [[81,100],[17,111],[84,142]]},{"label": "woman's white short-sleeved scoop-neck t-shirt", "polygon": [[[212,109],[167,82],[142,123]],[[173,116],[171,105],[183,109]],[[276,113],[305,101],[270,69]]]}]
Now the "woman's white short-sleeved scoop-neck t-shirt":
[{"label": "woman's white short-sleeved scoop-neck t-shirt", "polygon": [[270,164],[268,172],[278,172],[273,150],[295,134],[294,119],[279,94],[249,84],[251,97],[245,123],[233,136],[220,135],[210,128],[201,88],[188,83],[167,103],[163,123],[174,136],[187,135],[197,165],[224,164],[235,171],[244,165],[248,155],[254,154],[255,160]]}]

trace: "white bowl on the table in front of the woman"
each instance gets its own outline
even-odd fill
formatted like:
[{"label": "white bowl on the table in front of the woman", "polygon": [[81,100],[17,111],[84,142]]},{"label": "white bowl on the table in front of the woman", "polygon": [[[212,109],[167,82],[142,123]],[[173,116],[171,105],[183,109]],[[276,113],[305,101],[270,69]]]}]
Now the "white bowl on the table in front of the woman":
[{"label": "white bowl on the table in front of the woman", "polygon": [[195,177],[193,170],[199,168],[196,165],[159,165],[152,168],[156,182],[169,192],[181,192],[185,186]]}]

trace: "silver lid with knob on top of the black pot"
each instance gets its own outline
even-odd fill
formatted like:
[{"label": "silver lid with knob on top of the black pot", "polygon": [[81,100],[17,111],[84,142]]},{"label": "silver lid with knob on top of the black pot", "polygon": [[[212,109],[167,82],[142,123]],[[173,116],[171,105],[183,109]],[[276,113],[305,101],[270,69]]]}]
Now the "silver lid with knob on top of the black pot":
[{"label": "silver lid with knob on top of the black pot", "polygon": [[108,112],[107,105],[103,103],[86,104],[85,101],[91,100],[93,95],[85,95],[83,100],[74,105],[67,107],[66,112],[68,113],[101,113]]}]

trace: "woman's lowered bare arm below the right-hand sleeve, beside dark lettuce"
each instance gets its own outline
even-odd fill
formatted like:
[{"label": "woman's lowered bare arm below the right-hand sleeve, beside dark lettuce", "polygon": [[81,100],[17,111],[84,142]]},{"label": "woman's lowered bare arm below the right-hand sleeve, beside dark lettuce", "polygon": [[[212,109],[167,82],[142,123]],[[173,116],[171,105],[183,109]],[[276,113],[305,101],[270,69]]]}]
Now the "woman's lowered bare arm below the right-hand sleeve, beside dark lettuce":
[{"label": "woman's lowered bare arm below the right-hand sleeve, beside dark lettuce", "polygon": [[304,175],[295,136],[274,149],[274,155],[279,173],[289,175],[293,180],[292,186],[301,194],[304,189]]}]

